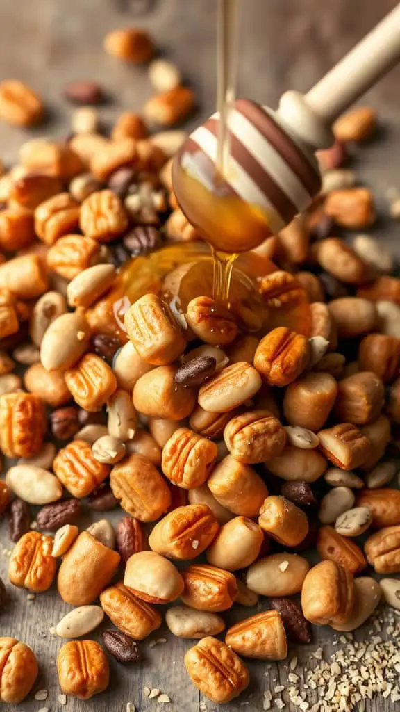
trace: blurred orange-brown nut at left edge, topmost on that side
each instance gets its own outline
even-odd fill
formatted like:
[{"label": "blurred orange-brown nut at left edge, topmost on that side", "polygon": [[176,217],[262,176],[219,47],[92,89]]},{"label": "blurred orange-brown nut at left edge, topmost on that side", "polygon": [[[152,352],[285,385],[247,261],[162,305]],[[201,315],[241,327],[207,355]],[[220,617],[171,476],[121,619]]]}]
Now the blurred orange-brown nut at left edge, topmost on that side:
[{"label": "blurred orange-brown nut at left edge, topmost on that side", "polygon": [[0,83],[0,118],[16,126],[32,126],[43,117],[41,98],[17,79]]}]

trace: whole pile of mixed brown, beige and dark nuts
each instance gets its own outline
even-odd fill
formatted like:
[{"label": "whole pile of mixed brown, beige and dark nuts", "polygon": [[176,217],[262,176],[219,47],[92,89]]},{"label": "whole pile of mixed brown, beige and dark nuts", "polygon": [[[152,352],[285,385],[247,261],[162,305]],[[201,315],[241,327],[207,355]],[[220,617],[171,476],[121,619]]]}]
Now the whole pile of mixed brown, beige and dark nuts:
[{"label": "whole pile of mixed brown, beige and dark nuts", "polygon": [[[111,33],[105,48],[133,62],[154,51],[139,30]],[[161,93],[143,115],[125,112],[109,138],[93,106],[101,88],[68,85],[65,96],[84,105],[73,135],[29,140],[0,178],[0,447],[18,459],[0,481],[0,514],[15,543],[11,585],[40,593],[57,577],[74,607],[56,627],[70,639],[58,654],[64,693],[87,699],[107,688],[104,649],[81,639],[104,615],[115,626],[105,649],[130,663],[137,641],[162,624],[158,604],[180,599],[167,626],[199,639],[186,669],[224,703],[248,686],[239,655],[283,660],[288,640],[310,642],[310,624],[352,631],[381,597],[400,609],[399,580],[360,576],[367,565],[400,572],[400,491],[390,486],[400,279],[376,240],[338,236],[375,219],[372,193],[342,169],[349,142],[376,126],[362,108],[337,122],[335,145],[321,152],[310,211],[256,250],[278,265],[258,280],[261,330],[239,327],[211,295],[177,316],[158,292],[126,305],[123,328],[120,266],[198,237],[170,177],[184,134],[147,129],[184,118],[194,95],[167,61],[151,61],[149,78]],[[42,114],[25,85],[0,84],[1,118],[31,125]],[[302,305],[307,335],[268,326],[288,305]],[[116,530],[107,518],[79,530],[83,508],[118,506]],[[321,561],[310,567],[312,547]],[[215,637],[221,613],[259,596],[269,609]],[[36,656],[0,638],[0,658],[0,701],[19,703]]]}]

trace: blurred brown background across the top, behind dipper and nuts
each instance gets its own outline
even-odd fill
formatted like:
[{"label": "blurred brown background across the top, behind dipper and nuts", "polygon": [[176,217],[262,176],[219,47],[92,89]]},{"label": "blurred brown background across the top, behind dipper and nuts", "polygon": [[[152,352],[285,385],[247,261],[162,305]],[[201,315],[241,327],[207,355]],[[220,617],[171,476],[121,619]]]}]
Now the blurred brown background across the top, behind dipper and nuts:
[{"label": "blurred brown background across the top, behind dipper and nuts", "polygon": [[[394,0],[241,0],[238,93],[275,106],[288,88],[307,90],[384,14]],[[101,115],[111,124],[122,109],[140,110],[151,95],[145,68],[115,61],[102,49],[112,29],[148,28],[160,52],[194,85],[199,114],[214,110],[216,0],[0,0],[0,74],[18,78],[46,101],[49,117],[38,135],[68,132],[71,108],[65,82],[98,80],[110,101]],[[399,109],[400,68],[367,97],[384,120]],[[1,125],[3,159],[15,159],[26,135]]]}]

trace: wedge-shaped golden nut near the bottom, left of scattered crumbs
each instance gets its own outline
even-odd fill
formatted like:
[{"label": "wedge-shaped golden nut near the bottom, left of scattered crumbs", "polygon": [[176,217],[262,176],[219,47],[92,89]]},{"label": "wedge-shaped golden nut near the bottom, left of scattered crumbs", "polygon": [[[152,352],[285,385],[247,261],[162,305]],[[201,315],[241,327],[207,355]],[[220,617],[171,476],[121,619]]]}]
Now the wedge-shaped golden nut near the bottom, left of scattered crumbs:
[{"label": "wedge-shaped golden nut near the bottom, left of scattered crumbs", "polygon": [[288,655],[285,628],[278,611],[264,611],[226,631],[226,645],[247,658],[284,660]]}]

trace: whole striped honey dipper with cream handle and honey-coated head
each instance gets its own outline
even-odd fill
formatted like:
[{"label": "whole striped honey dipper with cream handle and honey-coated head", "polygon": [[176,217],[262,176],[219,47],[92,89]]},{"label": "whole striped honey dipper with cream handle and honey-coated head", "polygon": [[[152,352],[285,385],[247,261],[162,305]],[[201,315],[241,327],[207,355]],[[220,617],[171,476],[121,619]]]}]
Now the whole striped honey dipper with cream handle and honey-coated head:
[{"label": "whole striped honey dipper with cream handle and honey-coated head", "polygon": [[275,234],[320,191],[315,151],[332,122],[400,59],[400,4],[310,91],[276,111],[240,99],[228,115],[230,156],[216,179],[219,114],[188,137],[172,167],[177,201],[217,250],[242,252]]}]

